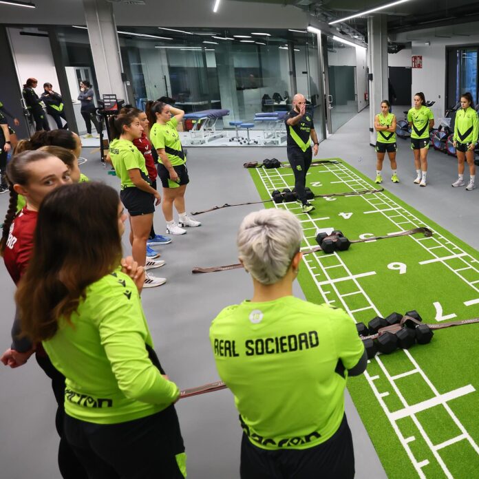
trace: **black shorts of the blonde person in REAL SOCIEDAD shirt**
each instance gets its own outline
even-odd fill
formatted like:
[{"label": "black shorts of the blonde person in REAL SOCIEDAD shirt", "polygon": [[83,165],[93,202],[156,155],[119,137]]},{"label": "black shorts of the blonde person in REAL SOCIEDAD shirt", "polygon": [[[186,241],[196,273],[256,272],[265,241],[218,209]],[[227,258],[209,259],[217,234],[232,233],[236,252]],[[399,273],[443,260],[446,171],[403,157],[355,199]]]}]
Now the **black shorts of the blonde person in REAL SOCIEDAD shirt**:
[{"label": "black shorts of the blonde person in REAL SOCIEDAD shirt", "polygon": [[354,478],[354,449],[346,416],[326,443],[309,449],[268,451],[253,445],[243,434],[240,476],[241,479]]}]

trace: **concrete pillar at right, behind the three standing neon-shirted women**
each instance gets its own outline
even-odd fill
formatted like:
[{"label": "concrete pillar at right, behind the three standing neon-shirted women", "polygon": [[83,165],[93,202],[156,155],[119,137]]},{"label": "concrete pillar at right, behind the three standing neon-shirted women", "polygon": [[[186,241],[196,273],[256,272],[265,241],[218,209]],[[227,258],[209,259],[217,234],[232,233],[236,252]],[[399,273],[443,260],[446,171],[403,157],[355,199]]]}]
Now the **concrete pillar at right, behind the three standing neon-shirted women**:
[{"label": "concrete pillar at right, behind the three standing neon-shirted women", "polygon": [[376,144],[374,116],[381,111],[381,101],[388,98],[387,88],[387,17],[368,18],[368,64],[370,69],[370,143]]}]

